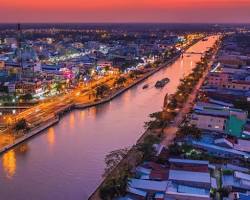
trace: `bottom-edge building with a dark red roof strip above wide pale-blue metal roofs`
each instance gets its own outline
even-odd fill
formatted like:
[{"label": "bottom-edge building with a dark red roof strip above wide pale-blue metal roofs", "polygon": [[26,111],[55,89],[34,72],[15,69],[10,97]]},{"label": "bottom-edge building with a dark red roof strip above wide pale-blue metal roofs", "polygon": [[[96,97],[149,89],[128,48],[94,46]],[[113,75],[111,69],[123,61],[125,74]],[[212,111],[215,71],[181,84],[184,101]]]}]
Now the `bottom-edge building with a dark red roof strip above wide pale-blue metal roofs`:
[{"label": "bottom-edge building with a dark red roof strip above wide pale-blue metal roofs", "polygon": [[170,158],[166,199],[209,200],[211,176],[209,162]]}]

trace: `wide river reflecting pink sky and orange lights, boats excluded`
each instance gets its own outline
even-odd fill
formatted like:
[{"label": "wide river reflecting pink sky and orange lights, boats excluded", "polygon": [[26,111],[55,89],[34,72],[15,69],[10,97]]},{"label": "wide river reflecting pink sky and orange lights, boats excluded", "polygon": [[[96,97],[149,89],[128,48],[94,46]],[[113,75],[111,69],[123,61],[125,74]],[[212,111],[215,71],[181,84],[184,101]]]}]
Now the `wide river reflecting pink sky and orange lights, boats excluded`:
[{"label": "wide river reflecting pink sky and orange lights, boats excluded", "polygon": [[[215,37],[188,52],[203,52]],[[180,78],[200,60],[184,55],[110,103],[75,110],[31,140],[0,157],[1,200],[85,200],[101,182],[105,155],[135,144],[144,122],[160,111],[166,93],[174,93]],[[157,80],[168,77],[163,89]],[[142,86],[149,84],[143,90]]]}]

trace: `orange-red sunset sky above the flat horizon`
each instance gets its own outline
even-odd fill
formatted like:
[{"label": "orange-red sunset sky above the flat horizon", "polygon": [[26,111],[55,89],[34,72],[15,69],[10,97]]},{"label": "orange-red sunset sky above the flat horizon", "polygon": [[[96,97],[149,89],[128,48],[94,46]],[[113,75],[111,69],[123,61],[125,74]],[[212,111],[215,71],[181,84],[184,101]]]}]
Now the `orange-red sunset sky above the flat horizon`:
[{"label": "orange-red sunset sky above the flat horizon", "polygon": [[0,0],[0,22],[250,23],[250,0]]}]

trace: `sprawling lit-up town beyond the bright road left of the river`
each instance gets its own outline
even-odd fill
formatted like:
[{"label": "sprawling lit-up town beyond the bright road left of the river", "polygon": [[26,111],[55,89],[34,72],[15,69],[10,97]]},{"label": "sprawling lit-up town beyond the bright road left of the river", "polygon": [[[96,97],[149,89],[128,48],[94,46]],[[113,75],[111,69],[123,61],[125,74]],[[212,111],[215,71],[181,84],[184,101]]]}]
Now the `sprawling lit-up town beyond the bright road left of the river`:
[{"label": "sprawling lit-up town beyond the bright road left of the river", "polygon": [[153,63],[190,37],[168,31],[1,31],[0,96],[53,96],[58,85],[70,89],[79,81]]}]

